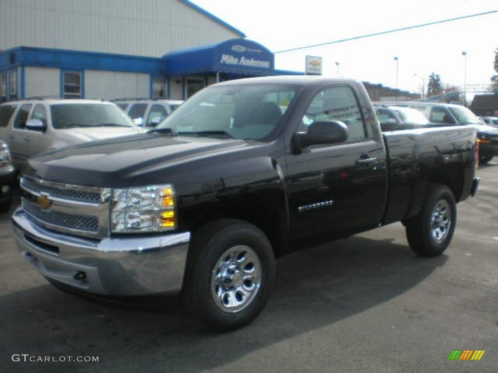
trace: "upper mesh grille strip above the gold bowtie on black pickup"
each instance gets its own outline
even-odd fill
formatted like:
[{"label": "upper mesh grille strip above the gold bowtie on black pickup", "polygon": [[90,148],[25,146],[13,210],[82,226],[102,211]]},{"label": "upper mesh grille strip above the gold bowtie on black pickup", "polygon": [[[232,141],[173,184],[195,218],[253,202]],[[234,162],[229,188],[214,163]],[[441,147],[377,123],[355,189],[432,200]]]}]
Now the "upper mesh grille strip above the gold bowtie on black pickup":
[{"label": "upper mesh grille strip above the gold bowtie on black pickup", "polygon": [[52,195],[54,197],[89,202],[89,203],[99,203],[100,202],[100,192],[93,192],[88,190],[82,190],[83,188],[76,186],[55,186],[55,183],[43,183],[35,182],[34,180],[28,178],[21,179],[21,187],[27,188],[32,192]]}]

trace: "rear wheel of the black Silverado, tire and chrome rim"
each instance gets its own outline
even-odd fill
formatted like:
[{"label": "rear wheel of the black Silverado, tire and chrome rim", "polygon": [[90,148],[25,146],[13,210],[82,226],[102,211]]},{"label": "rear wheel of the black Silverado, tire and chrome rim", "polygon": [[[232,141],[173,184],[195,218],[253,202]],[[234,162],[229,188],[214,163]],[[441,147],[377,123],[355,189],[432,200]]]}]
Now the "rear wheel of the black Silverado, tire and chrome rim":
[{"label": "rear wheel of the black Silverado, tire and chrome rim", "polygon": [[450,244],[457,222],[452,191],[442,185],[430,185],[427,200],[417,216],[406,221],[406,238],[418,255],[441,255]]}]

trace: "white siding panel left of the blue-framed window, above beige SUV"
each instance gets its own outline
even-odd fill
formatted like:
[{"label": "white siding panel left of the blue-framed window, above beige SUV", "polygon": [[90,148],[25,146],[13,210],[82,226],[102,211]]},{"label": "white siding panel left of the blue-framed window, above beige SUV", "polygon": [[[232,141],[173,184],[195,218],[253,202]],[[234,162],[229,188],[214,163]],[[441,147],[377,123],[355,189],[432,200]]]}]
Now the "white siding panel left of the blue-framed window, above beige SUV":
[{"label": "white siding panel left of the blue-framed window, above beige SUV", "polygon": [[25,97],[60,97],[60,70],[26,67],[24,68],[24,87]]}]

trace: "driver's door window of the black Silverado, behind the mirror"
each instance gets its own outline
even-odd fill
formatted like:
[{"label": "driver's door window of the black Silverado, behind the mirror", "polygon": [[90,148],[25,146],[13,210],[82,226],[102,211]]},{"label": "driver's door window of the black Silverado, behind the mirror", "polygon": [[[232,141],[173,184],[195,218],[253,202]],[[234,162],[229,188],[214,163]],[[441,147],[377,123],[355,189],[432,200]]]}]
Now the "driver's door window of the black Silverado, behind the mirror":
[{"label": "driver's door window of the black Silverado, behind the mirror", "polygon": [[331,87],[320,91],[311,101],[301,120],[300,132],[306,132],[321,120],[339,120],[348,127],[347,142],[362,141],[367,131],[354,91],[350,87]]}]

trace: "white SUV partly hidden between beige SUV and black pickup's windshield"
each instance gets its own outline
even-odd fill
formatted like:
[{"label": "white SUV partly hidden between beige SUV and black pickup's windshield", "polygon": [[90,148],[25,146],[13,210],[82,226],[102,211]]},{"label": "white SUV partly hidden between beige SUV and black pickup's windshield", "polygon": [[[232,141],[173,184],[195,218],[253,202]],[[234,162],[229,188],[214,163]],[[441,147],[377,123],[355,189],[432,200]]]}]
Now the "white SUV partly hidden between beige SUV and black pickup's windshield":
[{"label": "white SUV partly hidden between beige SUV and black pickup's windshield", "polygon": [[116,99],[112,101],[121,107],[138,125],[153,128],[180,106],[182,100],[171,99]]}]

